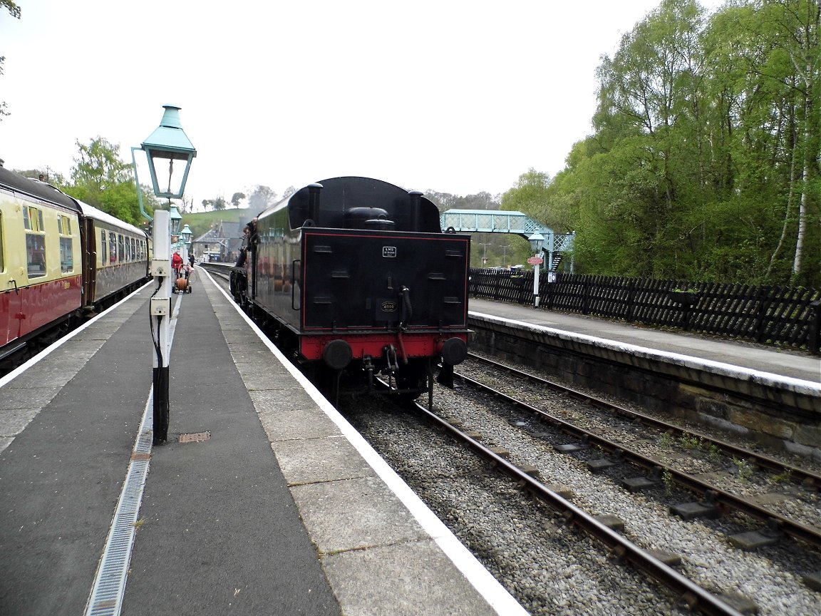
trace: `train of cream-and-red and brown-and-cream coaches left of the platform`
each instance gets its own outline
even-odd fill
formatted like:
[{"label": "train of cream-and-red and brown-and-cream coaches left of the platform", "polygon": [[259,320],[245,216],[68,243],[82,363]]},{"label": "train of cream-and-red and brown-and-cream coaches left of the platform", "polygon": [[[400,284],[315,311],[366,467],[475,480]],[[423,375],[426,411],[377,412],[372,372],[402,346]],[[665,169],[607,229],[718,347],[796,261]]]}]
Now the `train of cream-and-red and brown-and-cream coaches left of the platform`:
[{"label": "train of cream-and-red and brown-and-cream coaches left of the platform", "polygon": [[[149,238],[45,182],[0,167],[0,374],[147,281]],[[50,342],[50,340],[47,340]]]}]

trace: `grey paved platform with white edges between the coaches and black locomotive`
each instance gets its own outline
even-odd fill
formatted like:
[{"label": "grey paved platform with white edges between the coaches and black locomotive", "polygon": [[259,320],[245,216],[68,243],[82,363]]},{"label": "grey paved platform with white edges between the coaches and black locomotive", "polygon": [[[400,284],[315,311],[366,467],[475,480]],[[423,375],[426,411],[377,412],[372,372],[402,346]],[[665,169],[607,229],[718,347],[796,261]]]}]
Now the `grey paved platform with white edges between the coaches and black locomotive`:
[{"label": "grey paved platform with white edges between the coaches and black locomotive", "polygon": [[172,297],[167,444],[154,283],[0,379],[0,614],[526,614],[194,276]]}]

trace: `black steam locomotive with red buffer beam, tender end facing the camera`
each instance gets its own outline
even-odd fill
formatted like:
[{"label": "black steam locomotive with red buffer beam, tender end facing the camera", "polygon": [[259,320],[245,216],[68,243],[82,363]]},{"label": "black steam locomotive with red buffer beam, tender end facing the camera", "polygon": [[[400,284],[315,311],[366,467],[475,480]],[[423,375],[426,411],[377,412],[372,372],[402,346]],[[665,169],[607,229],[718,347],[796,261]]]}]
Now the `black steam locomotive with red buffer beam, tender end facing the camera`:
[{"label": "black steam locomotive with red buffer beam, tender end facing the camera", "polygon": [[256,220],[235,300],[320,383],[361,368],[392,393],[453,386],[467,355],[470,236],[442,232],[419,191],[368,177],[305,186]]}]

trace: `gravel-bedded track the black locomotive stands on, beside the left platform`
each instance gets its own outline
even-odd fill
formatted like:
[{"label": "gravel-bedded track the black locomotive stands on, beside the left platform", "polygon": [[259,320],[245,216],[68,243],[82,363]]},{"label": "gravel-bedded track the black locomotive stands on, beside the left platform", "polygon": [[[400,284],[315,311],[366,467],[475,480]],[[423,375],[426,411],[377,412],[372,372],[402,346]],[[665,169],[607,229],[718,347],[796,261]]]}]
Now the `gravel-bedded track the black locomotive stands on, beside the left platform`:
[{"label": "gravel-bedded track the black locomotive stands on, beside the left platform", "polygon": [[[742,552],[721,531],[665,515],[550,452],[499,419],[492,400],[475,399],[488,397],[470,388],[437,396],[433,414],[386,411],[362,396],[343,412],[531,614],[814,614],[813,591],[782,572],[789,548]],[[468,449],[479,452],[472,465]],[[612,612],[612,601],[631,607]]]}]

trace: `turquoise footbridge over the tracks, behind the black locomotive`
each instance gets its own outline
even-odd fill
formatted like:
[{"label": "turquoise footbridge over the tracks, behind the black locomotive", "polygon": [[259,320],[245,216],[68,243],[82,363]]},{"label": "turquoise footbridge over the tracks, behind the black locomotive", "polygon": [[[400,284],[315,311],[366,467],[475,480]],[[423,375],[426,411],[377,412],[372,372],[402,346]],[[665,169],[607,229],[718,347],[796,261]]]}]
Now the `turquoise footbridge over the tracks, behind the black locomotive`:
[{"label": "turquoise footbridge over the tracks, behind the black locomotive", "polygon": [[576,233],[556,233],[521,212],[502,209],[448,209],[439,216],[443,229],[475,233],[512,233],[525,240],[544,237],[541,253],[546,269],[555,272],[566,256],[570,258],[570,273],[573,273],[573,238]]}]

